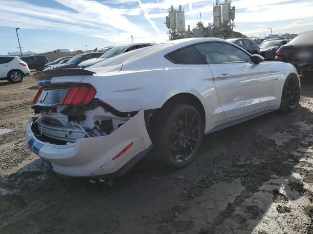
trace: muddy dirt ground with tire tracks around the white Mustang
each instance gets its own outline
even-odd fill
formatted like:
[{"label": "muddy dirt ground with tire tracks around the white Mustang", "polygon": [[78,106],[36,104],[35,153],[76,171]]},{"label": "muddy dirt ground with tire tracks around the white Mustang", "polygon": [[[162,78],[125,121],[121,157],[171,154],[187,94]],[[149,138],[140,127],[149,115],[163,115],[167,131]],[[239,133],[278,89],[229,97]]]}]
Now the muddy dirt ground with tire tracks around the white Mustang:
[{"label": "muddy dirt ground with tire tracks around the white Mustang", "polygon": [[92,184],[47,172],[27,149],[35,81],[0,81],[0,233],[313,234],[313,77],[301,82],[297,111],[204,137],[186,168],[152,152]]}]

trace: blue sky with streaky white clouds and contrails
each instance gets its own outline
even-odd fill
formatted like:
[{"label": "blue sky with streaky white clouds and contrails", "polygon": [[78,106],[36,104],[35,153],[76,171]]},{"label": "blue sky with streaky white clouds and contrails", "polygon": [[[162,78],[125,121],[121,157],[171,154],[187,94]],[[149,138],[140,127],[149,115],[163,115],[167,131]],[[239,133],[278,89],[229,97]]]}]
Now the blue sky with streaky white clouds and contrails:
[{"label": "blue sky with streaky white clouds and contrails", "polygon": [[[224,0],[220,0],[224,1]],[[0,54],[58,48],[89,50],[134,42],[168,39],[164,25],[168,8],[185,10],[186,27],[212,22],[215,0],[0,0]],[[235,31],[259,36],[300,33],[313,29],[313,0],[233,0]]]}]

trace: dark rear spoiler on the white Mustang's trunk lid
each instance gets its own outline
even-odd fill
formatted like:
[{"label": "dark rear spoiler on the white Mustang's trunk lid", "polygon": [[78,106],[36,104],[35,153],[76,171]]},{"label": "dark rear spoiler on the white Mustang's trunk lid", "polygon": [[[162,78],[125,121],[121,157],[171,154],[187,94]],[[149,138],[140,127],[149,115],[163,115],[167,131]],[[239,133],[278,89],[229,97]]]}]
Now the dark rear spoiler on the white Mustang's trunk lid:
[{"label": "dark rear spoiler on the white Mustang's trunk lid", "polygon": [[93,75],[95,72],[91,72],[85,69],[80,68],[68,68],[68,69],[56,69],[56,70],[47,70],[42,72],[36,72],[32,77],[36,80],[52,78],[52,77],[68,77],[68,76],[85,76]]}]

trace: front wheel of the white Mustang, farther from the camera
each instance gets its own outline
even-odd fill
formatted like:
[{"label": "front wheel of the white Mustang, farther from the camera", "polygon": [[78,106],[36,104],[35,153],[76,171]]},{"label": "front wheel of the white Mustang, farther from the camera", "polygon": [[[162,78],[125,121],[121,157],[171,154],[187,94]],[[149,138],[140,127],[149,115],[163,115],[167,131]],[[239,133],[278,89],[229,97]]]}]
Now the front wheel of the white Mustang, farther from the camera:
[{"label": "front wheel of the white Mustang, farther from the camera", "polygon": [[295,111],[299,106],[299,101],[299,80],[296,75],[291,74],[285,81],[279,110],[284,112]]}]

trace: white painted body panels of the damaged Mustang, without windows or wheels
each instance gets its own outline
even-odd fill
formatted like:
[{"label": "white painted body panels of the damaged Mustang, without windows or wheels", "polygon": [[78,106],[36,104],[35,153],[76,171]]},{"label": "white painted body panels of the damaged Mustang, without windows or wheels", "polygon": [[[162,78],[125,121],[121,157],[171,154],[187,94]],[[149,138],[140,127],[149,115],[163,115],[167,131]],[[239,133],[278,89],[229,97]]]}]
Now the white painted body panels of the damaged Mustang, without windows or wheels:
[{"label": "white painted body panels of the damaged Mustang, without windows or wheels", "polygon": [[[191,94],[200,100],[205,112],[204,133],[217,131],[280,107],[286,78],[291,73],[297,75],[291,64],[175,64],[164,57],[177,49],[202,42],[220,42],[235,46],[223,39],[175,40],[137,49],[94,64],[88,68],[96,73],[93,75],[39,80],[40,87],[51,87],[49,85],[60,83],[90,84],[97,91],[94,98],[126,116],[119,117],[98,106],[87,110],[84,113],[86,119],[77,125],[75,121],[68,122],[67,116],[61,113],[65,108],[63,106],[56,105],[56,112],[43,109],[42,117],[30,120],[26,132],[29,148],[44,159],[45,163],[50,163],[58,174],[104,176],[118,172],[130,162],[134,163],[138,160],[136,156],[142,156],[142,152],[145,153],[152,147],[145,126],[144,111],[162,108],[166,101],[178,94]],[[227,77],[227,74],[230,76]],[[297,77],[299,79],[298,75]],[[49,105],[37,102],[35,106],[41,108]],[[133,117],[127,114],[132,112],[137,114]],[[60,121],[63,127],[49,126],[41,118]],[[96,127],[97,131],[92,132],[94,136],[82,138],[85,130],[95,127],[95,120],[105,119],[112,119],[111,134],[100,134]],[[75,131],[77,138],[74,136],[68,139],[66,145],[43,142],[38,136],[34,136],[34,124],[38,124],[40,135],[46,134],[51,138],[64,140],[71,131]],[[118,127],[120,124],[123,125]],[[134,143],[131,150],[112,160],[129,142]]]}]

